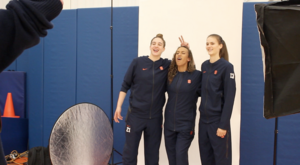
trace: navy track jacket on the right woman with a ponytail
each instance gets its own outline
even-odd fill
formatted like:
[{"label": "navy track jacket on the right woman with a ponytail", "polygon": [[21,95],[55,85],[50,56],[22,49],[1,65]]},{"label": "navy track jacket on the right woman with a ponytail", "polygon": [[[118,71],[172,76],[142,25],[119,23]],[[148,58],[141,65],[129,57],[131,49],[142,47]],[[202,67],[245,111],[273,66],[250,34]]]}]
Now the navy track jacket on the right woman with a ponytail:
[{"label": "navy track jacket on the right woman with a ponytail", "polygon": [[200,120],[219,122],[219,128],[228,130],[236,91],[233,65],[224,58],[214,63],[207,60],[201,70]]}]

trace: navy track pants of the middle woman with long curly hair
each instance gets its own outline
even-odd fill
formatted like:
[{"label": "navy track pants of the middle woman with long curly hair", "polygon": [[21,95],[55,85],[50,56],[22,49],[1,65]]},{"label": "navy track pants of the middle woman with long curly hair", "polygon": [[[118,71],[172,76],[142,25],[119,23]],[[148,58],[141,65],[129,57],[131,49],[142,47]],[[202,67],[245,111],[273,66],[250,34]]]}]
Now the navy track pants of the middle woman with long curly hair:
[{"label": "navy track pants of the middle woman with long curly hair", "polygon": [[164,129],[169,165],[188,165],[188,150],[194,139],[194,131]]}]

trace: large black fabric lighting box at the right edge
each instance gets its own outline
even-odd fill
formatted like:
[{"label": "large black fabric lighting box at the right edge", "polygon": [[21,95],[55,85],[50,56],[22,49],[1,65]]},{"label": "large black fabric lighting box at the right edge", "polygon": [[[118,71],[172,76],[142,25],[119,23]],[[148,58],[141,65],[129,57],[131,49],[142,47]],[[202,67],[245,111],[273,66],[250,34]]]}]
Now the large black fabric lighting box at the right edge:
[{"label": "large black fabric lighting box at the right edge", "polygon": [[265,52],[264,117],[300,112],[300,1],[256,4]]}]

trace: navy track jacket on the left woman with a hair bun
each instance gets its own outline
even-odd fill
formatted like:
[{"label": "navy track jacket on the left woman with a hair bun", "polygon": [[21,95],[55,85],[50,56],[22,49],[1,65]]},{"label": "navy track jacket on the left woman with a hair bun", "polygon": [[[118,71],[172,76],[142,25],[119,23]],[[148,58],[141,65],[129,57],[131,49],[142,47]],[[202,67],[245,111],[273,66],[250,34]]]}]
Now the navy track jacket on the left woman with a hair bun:
[{"label": "navy track jacket on the left woman with a hair bun", "polygon": [[168,59],[153,62],[148,56],[132,61],[121,88],[125,93],[131,90],[129,113],[149,119],[162,116],[169,66]]}]

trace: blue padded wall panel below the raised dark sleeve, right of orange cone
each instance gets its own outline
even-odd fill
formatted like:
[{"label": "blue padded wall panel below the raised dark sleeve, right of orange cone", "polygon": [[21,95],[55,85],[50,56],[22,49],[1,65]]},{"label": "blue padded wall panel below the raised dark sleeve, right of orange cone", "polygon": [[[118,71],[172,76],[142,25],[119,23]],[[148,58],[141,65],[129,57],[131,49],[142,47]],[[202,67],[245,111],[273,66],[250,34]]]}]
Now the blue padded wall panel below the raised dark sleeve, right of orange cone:
[{"label": "blue padded wall panel below the raised dark sleeve, right of orange cone", "polygon": [[44,38],[24,51],[17,59],[18,70],[26,72],[26,114],[29,127],[29,149],[43,145],[44,130]]}]

